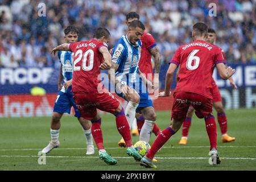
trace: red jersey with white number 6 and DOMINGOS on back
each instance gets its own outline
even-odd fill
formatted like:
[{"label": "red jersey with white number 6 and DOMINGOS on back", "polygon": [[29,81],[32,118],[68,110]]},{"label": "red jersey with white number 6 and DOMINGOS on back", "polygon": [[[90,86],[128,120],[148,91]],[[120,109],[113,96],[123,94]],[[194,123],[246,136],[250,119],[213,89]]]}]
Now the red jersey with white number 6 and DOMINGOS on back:
[{"label": "red jersey with white number 6 and DOMINGOS on back", "polygon": [[212,68],[226,61],[220,48],[197,40],[180,46],[169,63],[180,64],[174,92],[192,92],[212,99]]}]

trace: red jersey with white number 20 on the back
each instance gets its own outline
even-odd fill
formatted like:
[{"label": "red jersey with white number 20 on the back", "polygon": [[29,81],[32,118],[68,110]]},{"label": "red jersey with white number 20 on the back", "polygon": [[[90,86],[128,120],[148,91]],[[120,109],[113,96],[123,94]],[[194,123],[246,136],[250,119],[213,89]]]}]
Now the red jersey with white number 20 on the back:
[{"label": "red jersey with white number 20 on the back", "polygon": [[69,50],[74,52],[73,80],[71,92],[97,92],[100,65],[104,62],[99,49],[108,47],[104,42],[91,39],[85,42],[71,43]]}]

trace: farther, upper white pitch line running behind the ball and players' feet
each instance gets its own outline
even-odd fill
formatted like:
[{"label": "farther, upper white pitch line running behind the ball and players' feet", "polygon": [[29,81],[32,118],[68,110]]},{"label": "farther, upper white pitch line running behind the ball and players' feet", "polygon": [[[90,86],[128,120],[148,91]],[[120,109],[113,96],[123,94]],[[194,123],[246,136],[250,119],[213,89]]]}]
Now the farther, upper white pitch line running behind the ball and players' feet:
[{"label": "farther, upper white pitch line running behind the ball and players' feet", "polygon": [[[170,146],[163,148],[209,148],[210,146]],[[254,148],[256,146],[218,146],[218,148]],[[97,148],[96,148],[97,149]],[[106,147],[106,149],[121,149],[120,147]],[[4,148],[0,151],[29,151],[29,150],[42,150],[42,148]],[[56,148],[55,150],[86,150],[86,148]]]}]

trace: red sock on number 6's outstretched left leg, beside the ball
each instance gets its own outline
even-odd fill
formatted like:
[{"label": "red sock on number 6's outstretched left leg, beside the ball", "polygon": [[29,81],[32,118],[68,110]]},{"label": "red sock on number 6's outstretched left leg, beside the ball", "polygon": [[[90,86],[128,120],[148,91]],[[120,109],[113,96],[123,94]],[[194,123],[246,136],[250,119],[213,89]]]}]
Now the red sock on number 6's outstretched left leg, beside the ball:
[{"label": "red sock on number 6's outstretched left leg, beside the ball", "polygon": [[147,158],[153,159],[156,152],[168,141],[168,139],[171,137],[171,135],[174,135],[175,132],[170,127],[167,127],[161,133],[156,137],[154,143],[152,144],[152,147],[150,148],[150,151],[147,153]]}]

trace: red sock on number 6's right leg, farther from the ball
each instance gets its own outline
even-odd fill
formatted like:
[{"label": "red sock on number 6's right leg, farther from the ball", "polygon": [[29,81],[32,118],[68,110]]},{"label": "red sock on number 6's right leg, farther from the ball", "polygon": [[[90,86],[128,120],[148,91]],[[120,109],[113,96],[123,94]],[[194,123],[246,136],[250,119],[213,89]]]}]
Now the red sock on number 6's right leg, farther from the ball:
[{"label": "red sock on number 6's right leg, farther from the ball", "polygon": [[214,147],[217,150],[217,129],[213,115],[208,115],[204,118],[207,134],[210,140],[210,150]]}]

